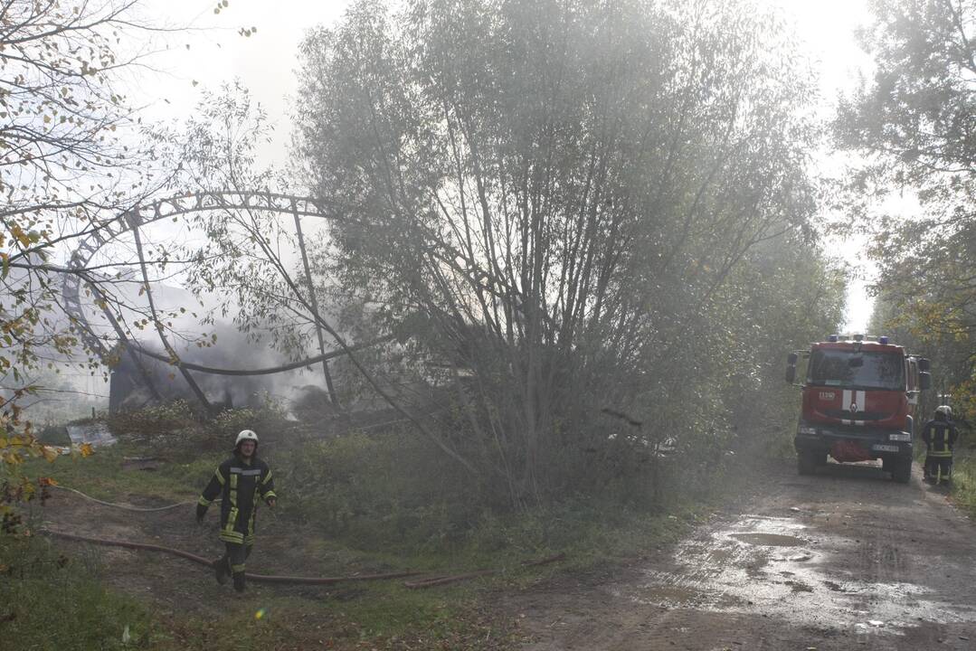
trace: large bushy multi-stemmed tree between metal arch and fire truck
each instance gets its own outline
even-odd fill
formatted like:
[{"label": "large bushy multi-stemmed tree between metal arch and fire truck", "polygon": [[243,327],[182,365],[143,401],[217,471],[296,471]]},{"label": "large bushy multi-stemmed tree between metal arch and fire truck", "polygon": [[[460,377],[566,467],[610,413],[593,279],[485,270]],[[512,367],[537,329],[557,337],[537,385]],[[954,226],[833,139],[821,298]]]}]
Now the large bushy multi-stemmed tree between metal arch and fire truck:
[{"label": "large bushy multi-stemmed tree between metal arch and fire truck", "polygon": [[306,40],[301,161],[344,298],[473,371],[455,443],[516,499],[714,419],[752,346],[735,315],[784,306],[730,283],[771,242],[819,264],[790,43],[738,0],[367,0]]}]

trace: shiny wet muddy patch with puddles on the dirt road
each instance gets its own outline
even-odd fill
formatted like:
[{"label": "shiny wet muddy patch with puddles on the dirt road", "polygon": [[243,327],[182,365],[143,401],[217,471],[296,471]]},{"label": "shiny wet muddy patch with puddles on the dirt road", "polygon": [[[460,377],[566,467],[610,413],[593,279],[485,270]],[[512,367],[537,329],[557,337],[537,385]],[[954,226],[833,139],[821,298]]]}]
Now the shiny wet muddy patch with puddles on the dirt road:
[{"label": "shiny wet muddy patch with puddles on the dirt road", "polygon": [[870,627],[872,634],[901,635],[920,620],[976,621],[976,609],[939,601],[924,586],[838,575],[833,555],[851,541],[812,535],[793,518],[749,514],[703,534],[675,550],[671,568],[650,570],[640,585],[612,592],[636,603],[761,614],[834,631],[872,621],[883,624]]}]

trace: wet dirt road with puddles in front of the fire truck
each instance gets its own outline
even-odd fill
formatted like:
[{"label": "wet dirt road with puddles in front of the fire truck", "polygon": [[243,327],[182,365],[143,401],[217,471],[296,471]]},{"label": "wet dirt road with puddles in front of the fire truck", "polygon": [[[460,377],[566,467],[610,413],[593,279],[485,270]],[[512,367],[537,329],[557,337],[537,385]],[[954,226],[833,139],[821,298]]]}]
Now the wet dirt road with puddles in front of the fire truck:
[{"label": "wet dirt road with puddles in front of the fire truck", "polygon": [[626,576],[519,597],[526,649],[976,649],[976,527],[919,479],[774,470]]}]

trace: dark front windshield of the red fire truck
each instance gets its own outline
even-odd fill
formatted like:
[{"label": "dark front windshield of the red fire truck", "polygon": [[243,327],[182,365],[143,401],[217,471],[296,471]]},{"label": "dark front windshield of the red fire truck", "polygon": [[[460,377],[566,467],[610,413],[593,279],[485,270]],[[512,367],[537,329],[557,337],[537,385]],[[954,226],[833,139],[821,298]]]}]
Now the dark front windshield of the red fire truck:
[{"label": "dark front windshield of the red fire truck", "polygon": [[905,390],[905,359],[897,353],[819,349],[809,369],[810,385]]}]

